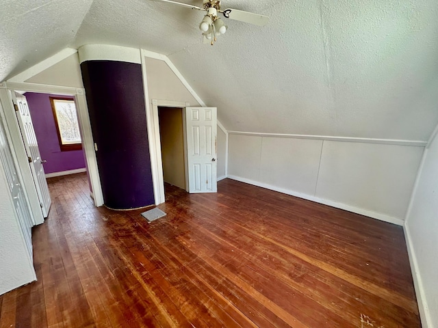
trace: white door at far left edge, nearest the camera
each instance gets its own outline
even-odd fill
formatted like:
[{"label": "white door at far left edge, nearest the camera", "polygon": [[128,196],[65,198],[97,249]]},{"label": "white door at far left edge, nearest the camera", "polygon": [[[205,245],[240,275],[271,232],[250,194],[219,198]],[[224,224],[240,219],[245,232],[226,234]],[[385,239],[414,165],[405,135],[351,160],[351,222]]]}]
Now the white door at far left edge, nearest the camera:
[{"label": "white door at far left edge, nearest the camera", "polygon": [[5,176],[8,182],[8,188],[14,202],[14,208],[16,210],[16,215],[18,217],[18,224],[23,231],[23,236],[25,238],[25,243],[29,255],[32,255],[32,235],[31,228],[34,223],[31,218],[30,210],[25,199],[25,193],[23,187],[21,187],[20,180],[18,179],[18,174],[16,171],[16,166],[14,164],[14,159],[12,157],[12,152],[8,144],[8,139],[6,139],[5,129],[3,122],[0,118],[0,165],[3,164],[5,169]]}]

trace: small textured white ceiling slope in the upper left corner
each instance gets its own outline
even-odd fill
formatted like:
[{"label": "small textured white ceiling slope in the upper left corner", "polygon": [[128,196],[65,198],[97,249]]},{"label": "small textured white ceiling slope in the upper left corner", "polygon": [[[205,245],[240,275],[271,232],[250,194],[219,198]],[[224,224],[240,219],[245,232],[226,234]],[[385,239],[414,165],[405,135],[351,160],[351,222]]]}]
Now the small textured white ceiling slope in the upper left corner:
[{"label": "small textured white ceiling slope in the upper left corner", "polygon": [[0,81],[75,41],[92,0],[0,0]]}]

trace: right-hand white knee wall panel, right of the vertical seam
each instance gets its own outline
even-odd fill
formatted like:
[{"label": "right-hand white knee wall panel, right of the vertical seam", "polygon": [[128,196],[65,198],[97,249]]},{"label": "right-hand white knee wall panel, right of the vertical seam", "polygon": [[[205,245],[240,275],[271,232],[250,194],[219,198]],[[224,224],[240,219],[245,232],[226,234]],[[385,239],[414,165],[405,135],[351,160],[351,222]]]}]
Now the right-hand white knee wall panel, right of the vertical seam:
[{"label": "right-hand white knee wall panel, right of the vertical seam", "polygon": [[316,197],[404,219],[422,147],[324,141]]}]

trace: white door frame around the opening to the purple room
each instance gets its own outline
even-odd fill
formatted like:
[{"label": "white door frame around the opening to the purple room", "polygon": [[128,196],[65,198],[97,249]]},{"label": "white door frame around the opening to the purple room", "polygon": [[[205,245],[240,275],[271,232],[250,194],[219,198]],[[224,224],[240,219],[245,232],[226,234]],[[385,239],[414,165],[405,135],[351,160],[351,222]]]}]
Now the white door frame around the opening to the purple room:
[{"label": "white door frame around the opening to the purple room", "polygon": [[[103,193],[101,189],[101,180],[99,178],[99,169],[97,167],[96,153],[94,151],[94,141],[92,139],[90,117],[88,116],[88,107],[86,102],[85,90],[77,87],[60,87],[57,85],[42,85],[36,83],[0,83],[0,100],[3,105],[3,112],[6,119],[7,130],[12,137],[12,147],[16,154],[18,168],[23,176],[25,192],[29,197],[31,213],[34,215],[35,224],[44,222],[36,195],[36,189],[31,177],[30,167],[27,163],[25,146],[21,141],[21,133],[16,120],[15,109],[12,105],[10,91],[37,92],[40,94],[60,94],[74,96],[78,113],[79,128],[82,136],[82,147],[85,153],[88,174],[90,176],[91,189],[94,198],[94,205],[99,207],[103,205]],[[40,213],[38,215],[38,213]]]}]

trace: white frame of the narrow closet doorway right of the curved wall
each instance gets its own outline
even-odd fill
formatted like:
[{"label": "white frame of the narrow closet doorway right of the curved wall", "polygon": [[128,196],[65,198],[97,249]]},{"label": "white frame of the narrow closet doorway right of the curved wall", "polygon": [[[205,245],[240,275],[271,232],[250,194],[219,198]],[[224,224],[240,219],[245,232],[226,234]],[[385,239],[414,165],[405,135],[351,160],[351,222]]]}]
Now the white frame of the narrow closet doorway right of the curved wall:
[{"label": "white frame of the narrow closet doorway right of the curved wall", "polygon": [[185,107],[190,107],[190,102],[179,102],[169,100],[151,101],[151,112],[148,115],[148,137],[149,153],[151,156],[151,171],[153,180],[153,194],[155,205],[166,201],[164,195],[164,176],[162,161],[162,143],[159,135],[158,107],[177,107],[183,109],[183,142],[184,142],[184,171],[185,171],[185,191],[188,191],[188,158],[187,158],[187,131],[185,128]]}]

